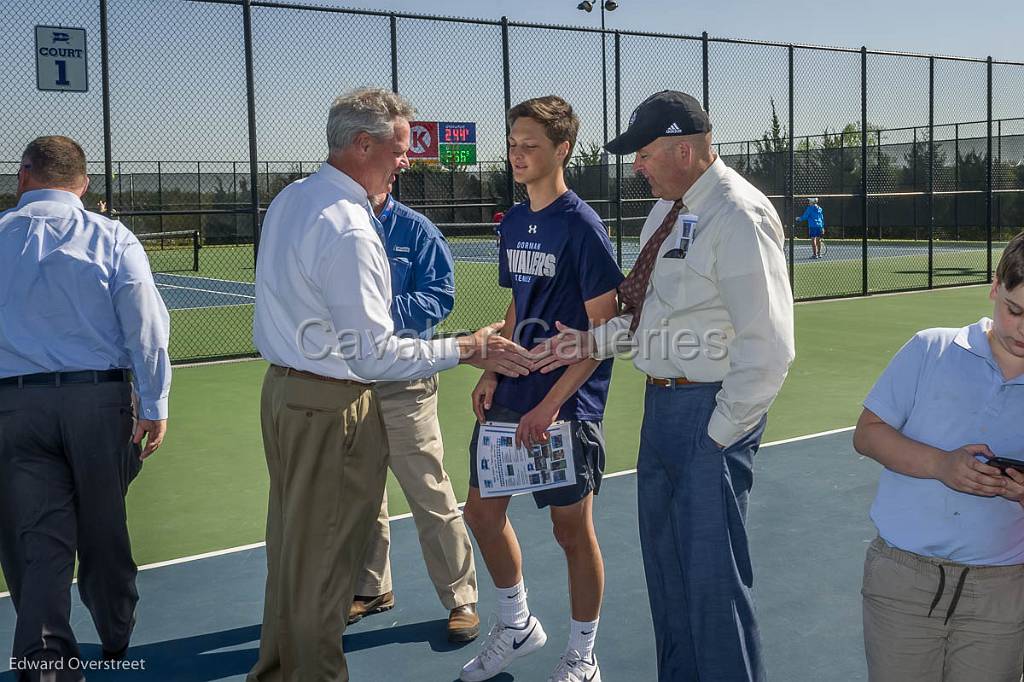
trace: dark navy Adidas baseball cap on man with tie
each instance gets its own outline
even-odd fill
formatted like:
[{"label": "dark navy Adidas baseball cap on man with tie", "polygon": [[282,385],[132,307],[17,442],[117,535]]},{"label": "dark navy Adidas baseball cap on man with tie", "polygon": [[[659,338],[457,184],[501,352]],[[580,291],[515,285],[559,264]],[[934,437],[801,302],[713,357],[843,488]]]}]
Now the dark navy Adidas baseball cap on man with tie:
[{"label": "dark navy Adidas baseball cap on man with tie", "polygon": [[711,131],[711,120],[696,99],[676,90],[655,92],[633,110],[630,126],[604,145],[611,154],[632,154],[668,135]]}]

